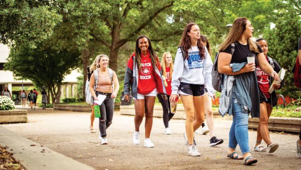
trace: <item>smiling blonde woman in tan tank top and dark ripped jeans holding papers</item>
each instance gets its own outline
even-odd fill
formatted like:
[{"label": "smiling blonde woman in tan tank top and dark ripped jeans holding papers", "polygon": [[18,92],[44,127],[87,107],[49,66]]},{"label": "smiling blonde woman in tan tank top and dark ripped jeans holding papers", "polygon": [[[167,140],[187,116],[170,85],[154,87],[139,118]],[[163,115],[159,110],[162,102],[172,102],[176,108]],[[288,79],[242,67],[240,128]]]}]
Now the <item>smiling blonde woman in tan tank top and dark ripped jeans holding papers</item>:
[{"label": "smiling blonde woman in tan tank top and dark ripped jeans holding papers", "polygon": [[[98,95],[104,95],[106,98],[99,106],[99,139],[101,144],[108,144],[106,129],[112,124],[114,113],[114,98],[117,97],[119,90],[119,82],[115,71],[108,68],[109,57],[106,55],[99,55],[96,57],[97,69],[91,74],[90,77],[90,92],[97,101]],[[115,87],[113,89],[113,86]]]}]

